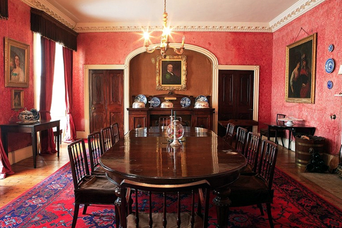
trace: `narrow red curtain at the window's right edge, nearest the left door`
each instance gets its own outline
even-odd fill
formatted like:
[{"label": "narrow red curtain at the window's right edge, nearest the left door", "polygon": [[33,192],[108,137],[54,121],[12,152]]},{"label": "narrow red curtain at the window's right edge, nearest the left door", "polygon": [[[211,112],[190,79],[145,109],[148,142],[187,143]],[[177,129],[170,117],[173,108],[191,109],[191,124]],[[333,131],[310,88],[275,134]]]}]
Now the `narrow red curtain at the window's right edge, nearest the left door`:
[{"label": "narrow red curtain at the window's right edge, nearest the left door", "polygon": [[76,127],[72,117],[72,50],[63,47],[64,81],[65,81],[65,106],[66,106],[66,130],[63,142],[76,140]]}]

